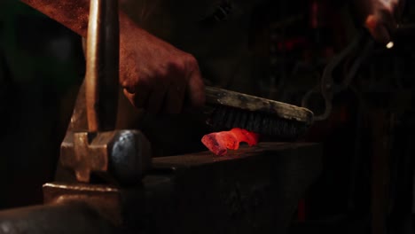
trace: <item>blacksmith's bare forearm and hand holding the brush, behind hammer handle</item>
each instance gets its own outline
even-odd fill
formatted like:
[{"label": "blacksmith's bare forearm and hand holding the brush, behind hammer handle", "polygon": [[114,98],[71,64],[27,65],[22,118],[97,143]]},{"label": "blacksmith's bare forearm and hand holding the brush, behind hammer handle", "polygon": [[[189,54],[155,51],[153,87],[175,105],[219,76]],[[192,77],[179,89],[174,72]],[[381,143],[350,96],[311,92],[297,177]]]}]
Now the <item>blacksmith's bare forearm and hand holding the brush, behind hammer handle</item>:
[{"label": "blacksmith's bare forearm and hand holding the brush, behind hammer handle", "polygon": [[[86,37],[90,0],[20,0]],[[120,0],[121,1],[121,0]],[[129,11],[126,9],[126,11]],[[120,16],[120,83],[132,105],[150,113],[180,113],[205,102],[196,58]]]}]

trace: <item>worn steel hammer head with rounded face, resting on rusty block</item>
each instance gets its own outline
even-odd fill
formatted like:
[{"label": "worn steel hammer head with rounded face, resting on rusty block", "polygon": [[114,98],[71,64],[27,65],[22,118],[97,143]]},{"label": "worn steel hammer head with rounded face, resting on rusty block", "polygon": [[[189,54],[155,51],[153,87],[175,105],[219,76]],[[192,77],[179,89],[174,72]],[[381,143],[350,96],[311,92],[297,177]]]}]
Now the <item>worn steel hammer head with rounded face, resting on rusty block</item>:
[{"label": "worn steel hammer head with rounded face, resting on rusty block", "polygon": [[138,183],[151,168],[151,144],[141,131],[67,132],[60,146],[62,166],[80,182],[97,172],[117,183]]}]

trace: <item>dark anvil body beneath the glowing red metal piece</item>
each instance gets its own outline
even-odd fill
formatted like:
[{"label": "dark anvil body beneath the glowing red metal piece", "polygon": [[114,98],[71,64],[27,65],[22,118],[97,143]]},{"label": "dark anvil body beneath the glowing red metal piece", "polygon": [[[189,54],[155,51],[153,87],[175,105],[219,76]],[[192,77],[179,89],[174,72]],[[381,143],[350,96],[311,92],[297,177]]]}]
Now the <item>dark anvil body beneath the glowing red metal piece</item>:
[{"label": "dark anvil body beneath the glowing red metal piece", "polygon": [[122,191],[124,223],[140,233],[284,233],[321,155],[319,144],[264,143],[154,158],[144,193]]}]

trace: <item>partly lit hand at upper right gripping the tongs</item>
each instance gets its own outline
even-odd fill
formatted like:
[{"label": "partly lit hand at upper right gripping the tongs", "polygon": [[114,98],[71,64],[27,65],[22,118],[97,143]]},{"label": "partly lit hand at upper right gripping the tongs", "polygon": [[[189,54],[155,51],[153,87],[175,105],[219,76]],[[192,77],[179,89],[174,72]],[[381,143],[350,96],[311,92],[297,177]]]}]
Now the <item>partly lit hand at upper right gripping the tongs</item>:
[{"label": "partly lit hand at upper right gripping the tongs", "polygon": [[379,43],[390,42],[396,29],[403,0],[354,0],[357,18],[362,21],[372,37]]}]

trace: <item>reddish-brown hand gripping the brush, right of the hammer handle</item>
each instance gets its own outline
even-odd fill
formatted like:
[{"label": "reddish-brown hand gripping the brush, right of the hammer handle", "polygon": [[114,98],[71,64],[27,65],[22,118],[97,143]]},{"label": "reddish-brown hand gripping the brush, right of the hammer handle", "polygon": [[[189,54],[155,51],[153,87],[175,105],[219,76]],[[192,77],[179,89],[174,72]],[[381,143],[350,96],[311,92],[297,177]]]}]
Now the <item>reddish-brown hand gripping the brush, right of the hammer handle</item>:
[{"label": "reddish-brown hand gripping the brush, right of the hammer handle", "polygon": [[132,22],[120,26],[120,83],[132,105],[150,113],[198,107],[205,88],[196,59]]}]

